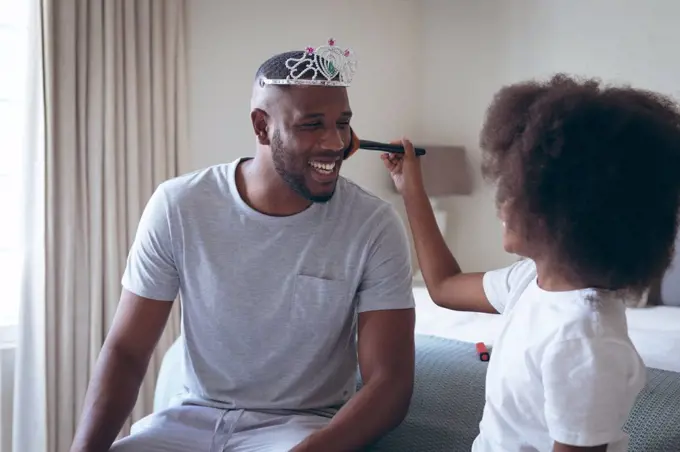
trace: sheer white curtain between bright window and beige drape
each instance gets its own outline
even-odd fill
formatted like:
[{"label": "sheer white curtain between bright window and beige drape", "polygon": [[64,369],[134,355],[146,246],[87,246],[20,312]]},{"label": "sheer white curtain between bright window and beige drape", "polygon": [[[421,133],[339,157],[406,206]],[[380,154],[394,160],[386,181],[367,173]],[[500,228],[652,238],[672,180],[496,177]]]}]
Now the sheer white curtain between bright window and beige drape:
[{"label": "sheer white curtain between bright window and beige drape", "polygon": [[[40,3],[30,2],[23,158],[23,280],[14,377],[13,452],[47,451],[45,361],[45,108]],[[35,303],[28,302],[34,300]],[[33,410],[29,411],[29,408]]]}]

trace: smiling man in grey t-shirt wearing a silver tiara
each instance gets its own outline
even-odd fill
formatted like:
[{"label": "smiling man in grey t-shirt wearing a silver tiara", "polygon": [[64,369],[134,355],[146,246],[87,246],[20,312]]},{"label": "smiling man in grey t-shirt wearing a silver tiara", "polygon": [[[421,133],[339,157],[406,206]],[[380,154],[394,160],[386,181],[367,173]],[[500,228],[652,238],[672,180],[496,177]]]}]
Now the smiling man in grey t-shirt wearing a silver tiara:
[{"label": "smiling man in grey t-shirt wearing a silver tiara", "polygon": [[153,194],[72,452],[109,450],[178,293],[182,400],[111,451],[359,450],[403,420],[409,251],[393,208],[338,174],[351,57],[329,41],[266,61],[253,87],[255,157]]}]

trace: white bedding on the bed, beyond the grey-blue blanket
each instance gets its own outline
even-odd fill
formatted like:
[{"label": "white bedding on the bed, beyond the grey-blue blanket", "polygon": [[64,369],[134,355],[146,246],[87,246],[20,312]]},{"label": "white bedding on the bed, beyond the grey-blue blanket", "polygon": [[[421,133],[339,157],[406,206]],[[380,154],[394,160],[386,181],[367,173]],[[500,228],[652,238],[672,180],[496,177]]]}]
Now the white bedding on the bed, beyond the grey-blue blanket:
[{"label": "white bedding on the bed, beyond the grey-blue blanket", "polygon": [[[414,287],[416,333],[493,345],[503,324],[500,315],[443,309],[425,287]],[[680,372],[680,307],[629,308],[628,333],[648,367]]]}]

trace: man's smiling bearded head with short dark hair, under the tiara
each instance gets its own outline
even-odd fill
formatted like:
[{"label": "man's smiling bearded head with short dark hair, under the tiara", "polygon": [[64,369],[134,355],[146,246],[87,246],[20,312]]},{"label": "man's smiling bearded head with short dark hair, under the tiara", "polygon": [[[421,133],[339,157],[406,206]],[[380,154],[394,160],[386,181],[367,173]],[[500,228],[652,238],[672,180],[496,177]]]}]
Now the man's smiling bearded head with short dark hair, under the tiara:
[{"label": "man's smiling bearded head with short dark hair, under the tiara", "polygon": [[[333,196],[344,151],[350,144],[352,112],[346,88],[262,83],[264,79],[286,79],[290,73],[286,62],[304,56],[301,51],[286,52],[260,66],[251,120],[261,152],[269,153],[287,185],[305,199],[326,202]],[[300,78],[311,75],[310,71]]]}]

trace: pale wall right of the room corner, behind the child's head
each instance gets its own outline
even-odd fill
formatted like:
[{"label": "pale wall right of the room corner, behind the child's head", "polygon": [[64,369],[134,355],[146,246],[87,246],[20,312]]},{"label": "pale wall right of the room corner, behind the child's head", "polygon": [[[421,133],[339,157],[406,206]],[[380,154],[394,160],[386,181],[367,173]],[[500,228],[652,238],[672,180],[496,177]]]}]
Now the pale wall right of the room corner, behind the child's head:
[{"label": "pale wall right of the room corner, behind the child's head", "polygon": [[503,84],[554,72],[599,76],[680,98],[680,2],[512,0],[423,2],[422,133],[463,144],[475,193],[449,202],[448,241],[466,270],[512,262],[478,171],[484,109]]}]

